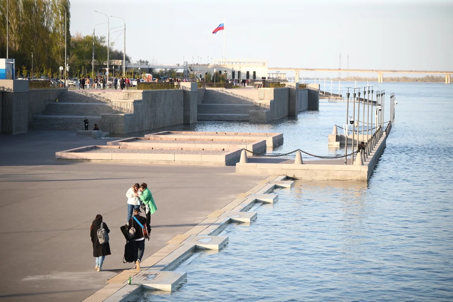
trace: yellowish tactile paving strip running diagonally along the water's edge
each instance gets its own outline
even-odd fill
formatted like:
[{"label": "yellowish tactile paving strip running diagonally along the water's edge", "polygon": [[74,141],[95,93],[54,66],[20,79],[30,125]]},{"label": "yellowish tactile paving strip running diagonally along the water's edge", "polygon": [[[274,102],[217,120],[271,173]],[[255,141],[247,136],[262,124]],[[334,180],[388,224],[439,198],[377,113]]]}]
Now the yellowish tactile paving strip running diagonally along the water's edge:
[{"label": "yellowish tactile paving strip running diagonally along the water's edge", "polygon": [[[141,272],[145,270],[145,267],[151,267],[154,264],[158,263],[160,260],[164,259],[170,253],[178,249],[181,246],[181,243],[186,240],[191,235],[198,235],[200,232],[205,230],[209,225],[212,225],[214,222],[217,221],[218,216],[222,215],[226,211],[231,211],[236,206],[239,206],[242,202],[246,200],[246,197],[250,194],[255,194],[256,192],[263,189],[270,181],[273,181],[275,178],[279,177],[279,175],[271,175],[264,180],[258,182],[258,184],[251,188],[246,193],[238,194],[237,197],[229,204],[224,206],[219,211],[214,211],[205,218],[202,222],[198,225],[195,225],[190,230],[186,231],[184,234],[176,235],[169,241],[167,241],[168,245],[164,246],[162,249],[159,249],[157,252],[146,258],[140,263],[142,268]],[[218,215],[217,215],[218,214]],[[110,297],[113,293],[120,290],[123,286],[125,286],[125,282],[129,279],[129,276],[135,276],[136,274],[140,273],[140,271],[130,268],[122,271],[121,273],[117,274],[115,277],[110,278],[106,281],[107,285],[92,294],[90,297],[87,297],[83,302],[102,302],[106,298]]]}]

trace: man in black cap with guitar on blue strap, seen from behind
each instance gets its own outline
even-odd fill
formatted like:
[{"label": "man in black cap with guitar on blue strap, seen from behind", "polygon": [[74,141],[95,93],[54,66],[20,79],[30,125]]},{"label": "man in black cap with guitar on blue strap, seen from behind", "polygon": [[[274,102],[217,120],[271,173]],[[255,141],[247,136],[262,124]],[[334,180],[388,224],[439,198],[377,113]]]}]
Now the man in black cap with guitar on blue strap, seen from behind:
[{"label": "man in black cap with guitar on blue strap, seen from behind", "polygon": [[[128,236],[134,244],[134,259],[135,259],[135,268],[140,270],[140,261],[145,252],[145,237],[149,240],[149,235],[147,231],[146,218],[140,216],[140,208],[134,209],[134,216],[130,218],[128,223]],[[122,230],[121,230],[122,231]],[[126,247],[125,246],[125,256],[126,256]],[[126,259],[127,261],[127,259]],[[128,261],[129,262],[129,261]]]}]

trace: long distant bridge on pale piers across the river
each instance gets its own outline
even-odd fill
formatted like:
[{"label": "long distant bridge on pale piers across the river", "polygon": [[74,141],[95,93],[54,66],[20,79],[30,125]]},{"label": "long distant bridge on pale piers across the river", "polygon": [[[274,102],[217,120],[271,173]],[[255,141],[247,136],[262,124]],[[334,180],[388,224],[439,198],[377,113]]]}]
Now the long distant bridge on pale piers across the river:
[{"label": "long distant bridge on pale piers across the river", "polygon": [[445,84],[451,83],[451,74],[453,71],[440,70],[393,70],[393,69],[341,69],[341,68],[293,68],[293,67],[268,67],[268,70],[287,70],[294,72],[367,72],[377,73],[378,83],[384,82],[384,73],[418,73],[418,74],[444,74]]}]

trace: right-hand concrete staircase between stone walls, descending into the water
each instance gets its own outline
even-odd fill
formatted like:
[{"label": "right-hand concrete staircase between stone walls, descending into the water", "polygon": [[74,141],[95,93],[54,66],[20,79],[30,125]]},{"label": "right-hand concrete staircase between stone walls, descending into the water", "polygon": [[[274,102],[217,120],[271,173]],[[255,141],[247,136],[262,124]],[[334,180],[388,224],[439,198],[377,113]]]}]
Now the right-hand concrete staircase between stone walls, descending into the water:
[{"label": "right-hand concrete staircase between stone walls, descending into the water", "polygon": [[[202,104],[198,104],[198,120],[248,121],[249,111],[255,109],[253,99],[248,95],[236,93],[236,90],[241,89],[207,88]],[[253,92],[258,95],[258,91]]]}]

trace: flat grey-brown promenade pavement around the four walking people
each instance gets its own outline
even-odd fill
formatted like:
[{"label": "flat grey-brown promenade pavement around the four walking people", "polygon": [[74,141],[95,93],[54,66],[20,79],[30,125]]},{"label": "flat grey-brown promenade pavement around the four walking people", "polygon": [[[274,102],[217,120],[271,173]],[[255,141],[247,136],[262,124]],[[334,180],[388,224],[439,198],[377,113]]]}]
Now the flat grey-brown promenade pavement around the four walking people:
[{"label": "flat grey-brown promenade pavement around the four walking people", "polygon": [[[158,211],[144,259],[266,176],[235,167],[58,162],[55,152],[109,140],[75,131],[29,130],[0,136],[0,301],[82,301],[123,264],[125,192],[146,182]],[[89,228],[109,226],[112,255],[95,272]]]}]

